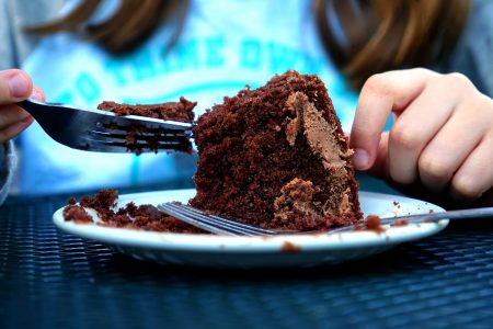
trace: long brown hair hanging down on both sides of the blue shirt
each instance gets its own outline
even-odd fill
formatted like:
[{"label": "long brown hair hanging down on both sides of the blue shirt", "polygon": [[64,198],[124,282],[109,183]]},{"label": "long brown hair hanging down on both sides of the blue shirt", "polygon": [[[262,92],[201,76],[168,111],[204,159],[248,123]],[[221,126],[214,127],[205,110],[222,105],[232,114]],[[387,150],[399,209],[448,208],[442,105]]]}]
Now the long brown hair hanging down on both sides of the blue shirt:
[{"label": "long brown hair hanging down on both sides of the blue shirt", "polygon": [[[85,24],[100,4],[101,0],[81,1],[67,15],[28,31],[72,31],[121,54],[162,22],[175,20],[171,47],[185,23],[190,0],[121,0],[106,21]],[[468,0],[312,0],[312,4],[325,50],[355,88],[374,73],[444,58],[459,38],[469,11]],[[344,32],[343,42],[334,20]]]}]

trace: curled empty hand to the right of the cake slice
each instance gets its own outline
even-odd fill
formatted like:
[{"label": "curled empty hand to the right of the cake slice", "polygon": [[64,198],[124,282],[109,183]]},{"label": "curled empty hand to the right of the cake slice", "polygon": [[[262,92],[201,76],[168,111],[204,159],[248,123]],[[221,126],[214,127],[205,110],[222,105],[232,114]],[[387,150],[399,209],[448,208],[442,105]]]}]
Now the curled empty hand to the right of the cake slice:
[{"label": "curled empty hand to the right of the cake slice", "polygon": [[[390,113],[394,123],[382,133]],[[493,100],[462,75],[410,69],[370,77],[349,145],[357,170],[404,192],[427,192],[417,195],[444,205],[493,204]]]}]

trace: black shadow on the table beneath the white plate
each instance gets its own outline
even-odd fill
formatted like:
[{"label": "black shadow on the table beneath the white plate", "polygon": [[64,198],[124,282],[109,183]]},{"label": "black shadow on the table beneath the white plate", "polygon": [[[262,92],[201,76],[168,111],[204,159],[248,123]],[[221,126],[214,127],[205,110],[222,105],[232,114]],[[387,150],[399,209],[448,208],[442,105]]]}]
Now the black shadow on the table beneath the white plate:
[{"label": "black shadow on the table beneath the white plate", "polygon": [[426,249],[414,246],[401,246],[393,250],[365,258],[348,261],[340,264],[316,265],[309,268],[262,268],[262,269],[218,269],[197,268],[186,265],[163,265],[149,261],[136,260],[131,257],[115,253],[115,270],[129,277],[139,275],[154,276],[154,279],[165,279],[167,276],[179,275],[181,279],[190,280],[218,280],[228,277],[234,280],[256,280],[256,281],[279,281],[293,279],[337,279],[362,275],[382,275],[410,271],[427,271],[434,264],[444,260]]}]

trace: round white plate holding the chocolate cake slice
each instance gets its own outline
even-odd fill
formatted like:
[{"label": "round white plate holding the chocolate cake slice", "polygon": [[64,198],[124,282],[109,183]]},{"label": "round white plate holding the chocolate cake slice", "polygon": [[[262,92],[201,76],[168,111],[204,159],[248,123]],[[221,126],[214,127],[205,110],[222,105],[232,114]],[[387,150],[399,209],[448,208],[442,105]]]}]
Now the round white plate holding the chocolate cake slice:
[{"label": "round white plate holding the chocolate cake slice", "polygon": [[[126,194],[119,196],[118,206],[124,206],[130,201],[137,205],[157,205],[165,201],[186,203],[194,195],[195,190]],[[365,216],[372,214],[386,217],[443,211],[427,202],[370,192],[360,192],[359,201]],[[222,268],[308,266],[339,263],[376,254],[398,243],[428,237],[440,231],[448,224],[448,219],[444,219],[437,224],[394,226],[382,234],[346,231],[333,235],[227,237],[76,224],[64,220],[62,211],[64,208],[58,209],[53,217],[55,225],[61,230],[99,241],[137,259]]]}]

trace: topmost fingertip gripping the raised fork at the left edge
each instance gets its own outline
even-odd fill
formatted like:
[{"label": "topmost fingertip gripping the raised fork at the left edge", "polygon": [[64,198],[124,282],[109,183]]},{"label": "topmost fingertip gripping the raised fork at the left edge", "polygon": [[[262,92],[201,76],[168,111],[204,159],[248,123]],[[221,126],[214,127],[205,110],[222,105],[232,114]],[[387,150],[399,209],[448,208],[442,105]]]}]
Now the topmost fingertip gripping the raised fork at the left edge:
[{"label": "topmost fingertip gripping the raised fork at the left edge", "polygon": [[0,71],[0,105],[12,104],[28,98],[33,90],[31,78],[22,70]]}]

